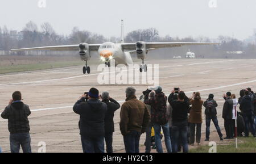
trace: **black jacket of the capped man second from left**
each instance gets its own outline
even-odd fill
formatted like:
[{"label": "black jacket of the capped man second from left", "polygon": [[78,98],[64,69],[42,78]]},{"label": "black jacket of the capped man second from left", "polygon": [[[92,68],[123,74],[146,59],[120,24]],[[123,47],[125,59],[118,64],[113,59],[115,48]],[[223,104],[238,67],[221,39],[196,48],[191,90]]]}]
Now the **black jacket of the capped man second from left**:
[{"label": "black jacket of the capped man second from left", "polygon": [[107,111],[105,103],[98,99],[85,98],[78,100],[73,106],[73,111],[80,115],[79,129],[81,136],[104,136],[104,119]]}]

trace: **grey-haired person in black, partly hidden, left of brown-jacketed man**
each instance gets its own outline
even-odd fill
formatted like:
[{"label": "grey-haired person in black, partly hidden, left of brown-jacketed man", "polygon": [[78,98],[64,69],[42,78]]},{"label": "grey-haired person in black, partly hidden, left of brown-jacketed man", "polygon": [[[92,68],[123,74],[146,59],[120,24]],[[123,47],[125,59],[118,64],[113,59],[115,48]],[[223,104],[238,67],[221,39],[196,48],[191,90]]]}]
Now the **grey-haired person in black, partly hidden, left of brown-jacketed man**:
[{"label": "grey-haired person in black, partly hidden, left of brown-jacketed man", "polygon": [[106,141],[106,152],[113,153],[113,132],[114,132],[114,112],[120,108],[120,104],[110,98],[108,91],[103,91],[101,94],[102,102],[107,105],[108,110],[105,114],[105,141]]}]

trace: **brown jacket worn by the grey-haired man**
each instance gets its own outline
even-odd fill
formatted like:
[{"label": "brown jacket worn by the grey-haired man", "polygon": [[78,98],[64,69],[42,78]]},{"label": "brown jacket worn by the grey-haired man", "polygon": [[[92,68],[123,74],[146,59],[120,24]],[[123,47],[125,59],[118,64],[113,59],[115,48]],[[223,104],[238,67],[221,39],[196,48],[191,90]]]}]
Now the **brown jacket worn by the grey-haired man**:
[{"label": "brown jacket worn by the grey-haired man", "polygon": [[120,111],[120,131],[123,136],[129,131],[144,133],[150,121],[150,112],[146,105],[138,100],[136,96],[126,98]]}]

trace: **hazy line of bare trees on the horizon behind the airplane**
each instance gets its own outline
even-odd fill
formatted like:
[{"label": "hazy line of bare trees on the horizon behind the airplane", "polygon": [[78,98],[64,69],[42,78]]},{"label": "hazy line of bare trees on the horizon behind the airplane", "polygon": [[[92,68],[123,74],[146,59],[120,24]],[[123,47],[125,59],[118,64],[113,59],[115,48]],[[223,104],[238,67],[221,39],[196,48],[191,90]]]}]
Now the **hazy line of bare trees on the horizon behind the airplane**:
[{"label": "hazy line of bare trees on the horizon behind the airplane", "polygon": [[[210,39],[209,37],[171,37],[159,36],[159,31],[155,28],[148,28],[143,30],[134,30],[125,36],[125,42],[131,43],[136,41],[188,41],[188,42],[219,42],[221,45],[205,45],[205,46],[186,46],[180,48],[167,48],[159,49],[153,54],[163,56],[180,56],[187,51],[196,53],[199,57],[226,57],[226,58],[256,58],[256,32],[254,33],[255,42],[245,43],[229,36],[219,36],[217,39]],[[105,41],[112,41],[119,43],[121,38],[110,37],[107,38],[98,33],[93,33],[86,30],[80,30],[74,27],[71,34],[68,36],[59,35],[53,29],[51,24],[43,23],[38,27],[34,22],[28,22],[22,30],[21,39],[13,37],[10,30],[4,26],[0,27],[0,50],[10,51],[13,48],[26,48],[26,47],[41,47],[48,45],[67,45],[86,43],[104,43]],[[234,52],[242,51],[242,54]],[[227,52],[231,52],[228,54]]]}]

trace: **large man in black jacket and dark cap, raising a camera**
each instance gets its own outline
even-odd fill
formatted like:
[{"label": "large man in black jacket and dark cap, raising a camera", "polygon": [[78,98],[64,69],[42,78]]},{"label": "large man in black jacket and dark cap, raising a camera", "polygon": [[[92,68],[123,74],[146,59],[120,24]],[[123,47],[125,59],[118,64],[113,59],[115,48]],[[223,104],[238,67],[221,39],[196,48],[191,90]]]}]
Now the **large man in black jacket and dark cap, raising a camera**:
[{"label": "large man in black jacket and dark cap, raising a camera", "polygon": [[98,99],[98,90],[91,88],[88,95],[82,95],[73,106],[73,111],[80,115],[79,129],[84,153],[104,153],[107,106]]}]

